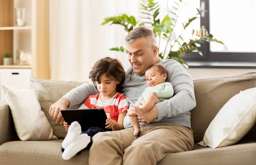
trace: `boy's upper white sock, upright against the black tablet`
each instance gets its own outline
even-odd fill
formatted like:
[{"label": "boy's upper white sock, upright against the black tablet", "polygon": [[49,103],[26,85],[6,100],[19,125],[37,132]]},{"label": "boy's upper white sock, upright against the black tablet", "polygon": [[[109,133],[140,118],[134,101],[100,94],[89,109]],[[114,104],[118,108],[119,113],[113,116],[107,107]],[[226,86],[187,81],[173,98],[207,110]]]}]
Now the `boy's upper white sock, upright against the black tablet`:
[{"label": "boy's upper white sock, upright against the black tablet", "polygon": [[66,149],[71,143],[77,140],[81,134],[81,126],[77,121],[74,121],[70,124],[70,127],[67,131],[67,136],[62,142],[62,147]]}]

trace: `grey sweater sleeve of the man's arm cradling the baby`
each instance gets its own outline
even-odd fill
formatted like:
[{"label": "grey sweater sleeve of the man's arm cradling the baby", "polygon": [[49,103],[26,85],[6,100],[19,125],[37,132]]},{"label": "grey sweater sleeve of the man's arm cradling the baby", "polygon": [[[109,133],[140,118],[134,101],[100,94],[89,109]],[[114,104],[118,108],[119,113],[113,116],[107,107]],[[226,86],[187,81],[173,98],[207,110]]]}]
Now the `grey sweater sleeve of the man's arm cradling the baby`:
[{"label": "grey sweater sleeve of the man's arm cradling the baby", "polygon": [[196,105],[193,81],[187,70],[178,62],[169,65],[167,70],[168,82],[172,83],[175,95],[156,104],[157,120],[188,112]]}]

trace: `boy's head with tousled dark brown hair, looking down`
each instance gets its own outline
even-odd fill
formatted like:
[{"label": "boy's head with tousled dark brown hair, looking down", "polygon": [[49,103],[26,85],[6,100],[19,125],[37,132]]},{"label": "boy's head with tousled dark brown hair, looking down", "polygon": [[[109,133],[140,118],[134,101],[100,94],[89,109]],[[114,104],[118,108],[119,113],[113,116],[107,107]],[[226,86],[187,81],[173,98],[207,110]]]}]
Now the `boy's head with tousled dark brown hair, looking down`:
[{"label": "boy's head with tousled dark brown hair, looking down", "polygon": [[125,70],[118,59],[105,57],[93,65],[89,78],[96,83],[99,92],[107,96],[112,92],[121,92]]}]

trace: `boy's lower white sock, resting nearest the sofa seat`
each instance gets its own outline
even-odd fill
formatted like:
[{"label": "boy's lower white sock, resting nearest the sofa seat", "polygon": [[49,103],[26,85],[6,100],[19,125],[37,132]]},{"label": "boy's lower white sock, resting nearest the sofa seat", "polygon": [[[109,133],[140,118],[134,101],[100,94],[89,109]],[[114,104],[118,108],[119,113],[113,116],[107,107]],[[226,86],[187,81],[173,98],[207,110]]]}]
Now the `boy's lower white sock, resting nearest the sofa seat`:
[{"label": "boy's lower white sock, resting nearest the sofa seat", "polygon": [[68,160],[74,157],[79,151],[86,148],[90,143],[90,137],[87,134],[80,134],[76,141],[71,143],[62,153],[62,158]]}]

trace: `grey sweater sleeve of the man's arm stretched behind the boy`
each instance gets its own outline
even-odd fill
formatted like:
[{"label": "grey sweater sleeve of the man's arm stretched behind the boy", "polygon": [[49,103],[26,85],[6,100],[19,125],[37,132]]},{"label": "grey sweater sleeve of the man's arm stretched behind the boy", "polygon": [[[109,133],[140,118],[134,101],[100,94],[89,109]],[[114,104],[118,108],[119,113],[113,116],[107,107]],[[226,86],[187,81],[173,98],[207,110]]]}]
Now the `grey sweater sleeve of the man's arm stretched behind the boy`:
[{"label": "grey sweater sleeve of the man's arm stretched behind the boy", "polygon": [[67,92],[62,98],[66,98],[69,102],[69,106],[73,106],[79,103],[83,103],[90,95],[96,95],[99,91],[96,89],[92,82],[84,83]]}]

